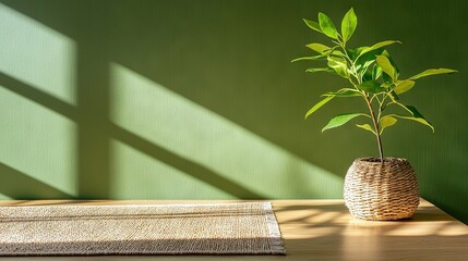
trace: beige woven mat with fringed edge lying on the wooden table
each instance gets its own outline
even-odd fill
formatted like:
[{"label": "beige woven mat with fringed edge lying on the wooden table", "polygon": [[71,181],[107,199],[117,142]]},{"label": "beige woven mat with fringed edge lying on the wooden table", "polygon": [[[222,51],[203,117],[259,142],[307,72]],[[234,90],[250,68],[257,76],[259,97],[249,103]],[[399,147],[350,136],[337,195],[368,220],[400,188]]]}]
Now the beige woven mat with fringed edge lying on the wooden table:
[{"label": "beige woven mat with fringed edge lying on the wooden table", "polygon": [[0,207],[0,256],[285,254],[269,202]]}]

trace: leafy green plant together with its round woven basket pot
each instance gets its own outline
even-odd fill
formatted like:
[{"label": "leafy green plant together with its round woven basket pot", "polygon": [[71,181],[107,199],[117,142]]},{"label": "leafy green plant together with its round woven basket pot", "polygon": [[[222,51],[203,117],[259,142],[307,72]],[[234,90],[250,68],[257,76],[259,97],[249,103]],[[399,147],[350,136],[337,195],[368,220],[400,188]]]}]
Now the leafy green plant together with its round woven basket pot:
[{"label": "leafy green plant together with its round woven basket pot", "polygon": [[399,41],[385,40],[369,47],[350,48],[348,42],[358,25],[352,8],[341,21],[340,33],[324,13],[319,13],[319,22],[304,22],[311,29],[331,38],[333,45],[309,44],[307,47],[314,55],[298,58],[292,62],[324,62],[325,66],[311,67],[307,72],[332,73],[349,82],[349,87],[323,94],[323,99],[305,113],[305,119],[335,98],[360,98],[369,109],[367,112],[338,114],[322,132],[359,119],[361,122],[356,126],[374,135],[377,144],[379,157],[357,159],[349,167],[344,188],[346,206],[352,215],[364,220],[410,217],[419,204],[415,171],[406,159],[384,157],[381,136],[399,120],[413,121],[434,130],[432,124],[415,107],[405,104],[399,97],[410,90],[421,77],[456,71],[430,69],[409,78],[401,78],[386,50],[386,47],[400,44]]}]

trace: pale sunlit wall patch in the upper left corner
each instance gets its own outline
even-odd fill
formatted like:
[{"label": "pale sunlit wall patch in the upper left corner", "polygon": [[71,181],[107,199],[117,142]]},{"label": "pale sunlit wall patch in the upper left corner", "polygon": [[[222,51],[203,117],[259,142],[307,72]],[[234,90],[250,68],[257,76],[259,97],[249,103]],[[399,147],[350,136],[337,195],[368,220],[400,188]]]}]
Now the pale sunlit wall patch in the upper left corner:
[{"label": "pale sunlit wall patch in the upper left corner", "polygon": [[0,72],[75,104],[76,44],[0,3]]}]

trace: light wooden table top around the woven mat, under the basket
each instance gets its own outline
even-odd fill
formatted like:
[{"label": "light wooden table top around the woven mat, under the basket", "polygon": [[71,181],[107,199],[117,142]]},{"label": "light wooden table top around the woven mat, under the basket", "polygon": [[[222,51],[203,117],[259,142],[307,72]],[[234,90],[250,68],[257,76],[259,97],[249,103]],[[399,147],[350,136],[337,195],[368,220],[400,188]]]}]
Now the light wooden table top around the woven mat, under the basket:
[{"label": "light wooden table top around the woven mat, under the basket", "polygon": [[[207,203],[242,200],[5,200],[0,206]],[[100,256],[2,260],[468,260],[468,226],[422,200],[410,220],[352,217],[343,200],[272,200],[286,256]],[[1,232],[0,232],[1,233]]]}]

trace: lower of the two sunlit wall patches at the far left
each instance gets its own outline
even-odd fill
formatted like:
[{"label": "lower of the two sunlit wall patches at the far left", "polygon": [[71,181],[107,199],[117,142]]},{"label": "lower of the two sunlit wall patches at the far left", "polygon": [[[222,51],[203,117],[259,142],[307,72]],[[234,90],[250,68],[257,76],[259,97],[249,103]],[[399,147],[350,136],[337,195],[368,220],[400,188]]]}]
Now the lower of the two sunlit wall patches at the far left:
[{"label": "lower of the two sunlit wall patches at the far left", "polygon": [[[0,163],[64,194],[76,195],[76,124],[1,85],[0,103]],[[14,182],[2,177],[2,185]],[[47,196],[35,191],[28,195]]]}]

